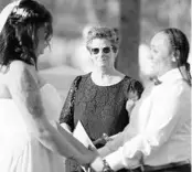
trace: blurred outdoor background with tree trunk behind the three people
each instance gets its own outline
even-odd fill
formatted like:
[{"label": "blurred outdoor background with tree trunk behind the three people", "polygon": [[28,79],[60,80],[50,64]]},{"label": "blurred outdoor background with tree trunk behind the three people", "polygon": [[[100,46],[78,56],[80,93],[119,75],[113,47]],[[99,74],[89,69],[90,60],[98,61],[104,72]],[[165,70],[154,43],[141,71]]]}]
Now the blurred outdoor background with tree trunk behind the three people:
[{"label": "blurred outdoor background with tree trunk behind the three people", "polygon": [[[121,45],[116,67],[139,78],[151,36],[161,29],[181,29],[191,40],[191,0],[39,0],[53,14],[51,50],[39,60],[40,74],[63,99],[75,76],[92,71],[83,35],[90,25],[119,29]],[[0,0],[0,10],[9,0]],[[145,65],[140,66],[145,68]]]}]

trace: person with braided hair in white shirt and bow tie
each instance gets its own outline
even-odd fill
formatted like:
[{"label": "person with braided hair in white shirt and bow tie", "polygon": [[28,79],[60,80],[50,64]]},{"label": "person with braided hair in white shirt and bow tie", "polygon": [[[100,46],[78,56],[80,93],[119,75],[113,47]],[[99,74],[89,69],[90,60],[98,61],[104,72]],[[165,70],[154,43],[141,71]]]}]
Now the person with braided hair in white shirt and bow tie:
[{"label": "person with braided hair in white shirt and bow tie", "polygon": [[96,171],[191,171],[191,74],[189,42],[178,29],[151,40],[148,85],[130,115],[130,123],[104,148]]}]

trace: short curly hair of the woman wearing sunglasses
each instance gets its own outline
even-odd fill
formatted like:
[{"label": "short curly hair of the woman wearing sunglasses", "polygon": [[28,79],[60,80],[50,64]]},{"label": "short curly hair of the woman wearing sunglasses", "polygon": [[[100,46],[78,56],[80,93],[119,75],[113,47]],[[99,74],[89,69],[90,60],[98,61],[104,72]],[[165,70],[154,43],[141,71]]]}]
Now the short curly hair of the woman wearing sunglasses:
[{"label": "short curly hair of the woman wearing sunglasses", "polygon": [[89,50],[89,44],[94,39],[104,39],[110,42],[113,51],[116,53],[119,47],[119,35],[117,29],[107,26],[93,26],[86,35],[86,46]]}]

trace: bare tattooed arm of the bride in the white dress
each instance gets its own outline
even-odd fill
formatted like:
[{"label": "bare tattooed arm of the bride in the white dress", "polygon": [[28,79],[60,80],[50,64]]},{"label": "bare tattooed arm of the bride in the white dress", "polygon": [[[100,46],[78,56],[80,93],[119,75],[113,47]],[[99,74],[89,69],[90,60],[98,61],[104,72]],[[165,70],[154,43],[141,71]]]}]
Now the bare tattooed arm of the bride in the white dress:
[{"label": "bare tattooed arm of the bride in the white dress", "polygon": [[[41,101],[39,85],[25,64],[13,62],[7,75],[8,88],[29,126],[28,129],[44,147],[61,155],[75,159],[81,164],[89,163],[95,159],[95,154],[90,153],[68,132],[65,131],[64,135],[61,135],[47,121]],[[76,144],[81,150],[75,148]]]}]

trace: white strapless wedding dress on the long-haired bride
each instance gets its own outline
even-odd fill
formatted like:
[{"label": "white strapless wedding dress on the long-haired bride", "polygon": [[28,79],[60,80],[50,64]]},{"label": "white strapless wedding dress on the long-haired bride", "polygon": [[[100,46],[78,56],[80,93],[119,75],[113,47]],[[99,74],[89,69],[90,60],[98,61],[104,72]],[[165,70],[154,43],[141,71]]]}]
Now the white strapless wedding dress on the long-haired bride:
[{"label": "white strapless wedding dress on the long-haired bride", "polygon": [[[56,89],[45,84],[41,96],[47,119],[57,121],[62,100]],[[64,172],[63,162],[28,131],[14,101],[0,98],[0,172]]]}]

